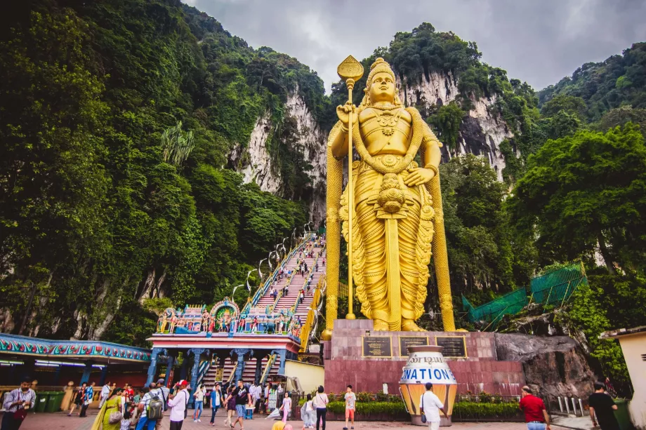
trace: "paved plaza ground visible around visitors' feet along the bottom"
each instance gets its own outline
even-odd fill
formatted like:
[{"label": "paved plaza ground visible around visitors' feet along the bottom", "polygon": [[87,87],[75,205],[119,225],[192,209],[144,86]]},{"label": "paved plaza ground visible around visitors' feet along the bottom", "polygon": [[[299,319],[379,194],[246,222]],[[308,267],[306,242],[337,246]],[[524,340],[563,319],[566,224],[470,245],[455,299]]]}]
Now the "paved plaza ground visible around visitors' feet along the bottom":
[{"label": "paved plaza ground visible around visitors' feet along the bottom", "polygon": [[[20,430],[89,430],[94,422],[96,415],[88,415],[87,418],[79,418],[77,416],[67,417],[64,413],[56,414],[30,414],[20,426]],[[187,419],[182,430],[206,430],[211,429],[209,425],[211,415],[202,419],[202,422],[195,423],[192,419]],[[223,424],[224,415],[220,412],[216,415],[216,425],[214,429],[226,430],[227,427]],[[248,420],[244,423],[245,430],[270,430],[273,422],[263,417],[256,417],[256,419]],[[303,422],[289,421],[294,427],[294,430],[301,430]],[[343,422],[328,422],[327,430],[341,430],[343,429]],[[357,422],[355,423],[356,430],[381,430],[381,429],[404,429],[404,430],[420,430],[426,427],[411,426],[404,422]],[[553,429],[560,427],[552,426]],[[164,418],[162,430],[169,429],[169,419]],[[237,427],[239,429],[239,427]],[[448,429],[448,428],[447,428]],[[450,427],[451,430],[523,430],[527,429],[525,424],[520,422],[487,422],[487,423],[455,423]]]}]

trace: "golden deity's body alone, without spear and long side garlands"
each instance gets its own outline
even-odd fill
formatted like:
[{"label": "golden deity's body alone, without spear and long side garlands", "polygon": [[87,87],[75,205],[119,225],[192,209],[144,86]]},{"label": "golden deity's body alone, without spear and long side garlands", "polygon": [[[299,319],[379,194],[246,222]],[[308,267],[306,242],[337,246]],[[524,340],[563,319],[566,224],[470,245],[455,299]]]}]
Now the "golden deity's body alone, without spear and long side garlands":
[{"label": "golden deity's body alone, without spear and long side garlands", "polygon": [[402,105],[395,74],[383,58],[371,66],[364,93],[358,107],[347,102],[336,109],[331,156],[348,155],[352,111],[352,142],[361,161],[352,162],[353,207],[346,187],[338,218],[336,208],[328,209],[328,224],[341,220],[348,241],[353,211],[352,277],[374,330],[421,331],[415,321],[424,313],[434,232],[430,182],[438,173],[442,144],[417,109]]}]

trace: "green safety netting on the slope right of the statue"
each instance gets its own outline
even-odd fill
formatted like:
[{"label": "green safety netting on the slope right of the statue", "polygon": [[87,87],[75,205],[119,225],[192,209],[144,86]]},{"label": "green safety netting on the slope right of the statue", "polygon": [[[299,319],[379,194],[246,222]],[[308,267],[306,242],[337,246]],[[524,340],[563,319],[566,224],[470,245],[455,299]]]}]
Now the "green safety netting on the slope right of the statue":
[{"label": "green safety netting on the slope right of the statue", "polygon": [[487,321],[495,326],[503,316],[518,314],[530,301],[543,306],[560,306],[579,285],[587,283],[584,266],[577,262],[536,276],[532,278],[529,288],[519,288],[479,307],[473,307],[462,296],[462,305],[467,312],[468,321]]}]

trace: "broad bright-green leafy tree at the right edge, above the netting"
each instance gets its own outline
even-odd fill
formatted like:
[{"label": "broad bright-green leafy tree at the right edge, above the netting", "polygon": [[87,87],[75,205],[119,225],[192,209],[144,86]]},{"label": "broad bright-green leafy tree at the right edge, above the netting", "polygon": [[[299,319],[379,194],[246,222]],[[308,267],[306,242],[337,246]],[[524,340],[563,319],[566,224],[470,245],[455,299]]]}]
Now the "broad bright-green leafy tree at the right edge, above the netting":
[{"label": "broad bright-green leafy tree at the right edge, above the netting", "polygon": [[546,260],[572,260],[598,248],[614,263],[643,268],[646,147],[632,123],[607,133],[579,131],[548,140],[529,157],[510,204],[515,222],[538,236]]}]

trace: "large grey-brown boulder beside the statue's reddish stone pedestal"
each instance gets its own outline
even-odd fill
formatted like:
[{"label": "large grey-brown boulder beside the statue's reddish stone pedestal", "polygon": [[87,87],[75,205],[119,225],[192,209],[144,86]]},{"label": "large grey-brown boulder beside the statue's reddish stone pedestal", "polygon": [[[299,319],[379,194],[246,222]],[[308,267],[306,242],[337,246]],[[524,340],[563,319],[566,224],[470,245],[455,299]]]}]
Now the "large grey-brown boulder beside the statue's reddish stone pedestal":
[{"label": "large grey-brown boulder beside the statue's reddish stone pedestal", "polygon": [[499,360],[520,361],[527,385],[540,396],[586,398],[596,380],[584,352],[567,336],[496,333]]}]

